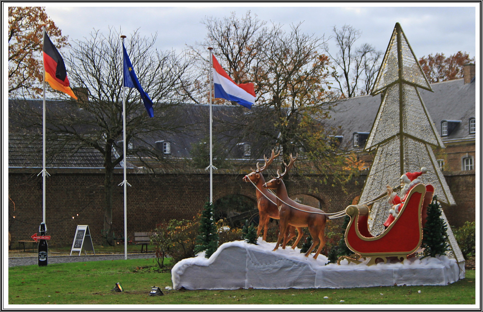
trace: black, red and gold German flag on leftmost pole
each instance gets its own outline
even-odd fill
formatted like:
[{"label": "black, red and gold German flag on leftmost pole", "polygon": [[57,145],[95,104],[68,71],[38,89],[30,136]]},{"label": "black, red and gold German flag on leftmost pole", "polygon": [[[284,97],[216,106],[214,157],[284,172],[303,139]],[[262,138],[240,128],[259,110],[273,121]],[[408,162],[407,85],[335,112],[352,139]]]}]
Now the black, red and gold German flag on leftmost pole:
[{"label": "black, red and gold German flag on leftmost pole", "polygon": [[43,64],[45,69],[45,81],[47,81],[52,89],[62,91],[77,99],[72,92],[67,78],[67,70],[65,69],[64,60],[57,51],[56,46],[50,41],[47,33],[43,35]]}]

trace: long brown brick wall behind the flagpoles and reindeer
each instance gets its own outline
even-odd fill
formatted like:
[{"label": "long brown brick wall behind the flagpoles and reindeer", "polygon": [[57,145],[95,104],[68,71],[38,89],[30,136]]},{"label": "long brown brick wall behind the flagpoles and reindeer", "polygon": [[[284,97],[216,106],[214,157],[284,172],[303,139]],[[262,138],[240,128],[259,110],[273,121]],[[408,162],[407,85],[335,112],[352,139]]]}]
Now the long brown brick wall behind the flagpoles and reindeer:
[{"label": "long brown brick wall behind the flagpoles and reindeer", "polygon": [[[267,175],[274,175],[267,170]],[[12,242],[28,239],[38,231],[42,221],[42,178],[37,171],[9,172],[9,231]],[[49,244],[71,245],[77,225],[89,225],[94,244],[101,243],[103,226],[104,174],[102,170],[49,170],[52,175],[46,187],[46,224]],[[337,212],[360,195],[367,172],[355,177],[345,191],[341,187],[321,184],[318,176],[291,176],[287,189],[291,197],[309,195],[320,201],[321,208]],[[255,190],[235,173],[213,175],[213,201],[228,194],[241,194],[256,199]],[[116,235],[124,233],[122,171],[114,174],[113,225]],[[450,224],[461,225],[475,218],[474,172],[448,177],[457,207],[445,207]],[[163,219],[191,218],[202,209],[209,196],[207,174],[128,174],[128,237],[134,232],[149,231]],[[14,203],[14,204],[13,204]],[[77,214],[79,216],[77,216]],[[15,218],[13,218],[15,217]],[[74,217],[74,218],[72,218]],[[343,218],[334,220],[341,224]],[[12,247],[16,247],[13,243]]]}]

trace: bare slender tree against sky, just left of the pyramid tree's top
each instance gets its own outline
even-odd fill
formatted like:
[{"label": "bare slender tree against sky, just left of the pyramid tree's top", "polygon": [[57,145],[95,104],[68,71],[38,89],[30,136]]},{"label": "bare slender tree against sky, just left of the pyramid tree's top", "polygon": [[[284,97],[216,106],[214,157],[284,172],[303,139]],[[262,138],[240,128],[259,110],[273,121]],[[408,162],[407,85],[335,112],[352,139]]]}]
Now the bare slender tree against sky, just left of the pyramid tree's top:
[{"label": "bare slender tree against sky, just left of the pyramid tree's top", "polygon": [[[355,46],[362,32],[350,25],[340,29],[333,27],[334,40],[338,48],[335,55],[330,55],[337,65],[334,78],[339,84],[342,97],[353,97],[359,94],[369,94],[374,75],[379,71],[379,59],[382,51],[368,43]],[[360,85],[363,85],[360,87]]]}]

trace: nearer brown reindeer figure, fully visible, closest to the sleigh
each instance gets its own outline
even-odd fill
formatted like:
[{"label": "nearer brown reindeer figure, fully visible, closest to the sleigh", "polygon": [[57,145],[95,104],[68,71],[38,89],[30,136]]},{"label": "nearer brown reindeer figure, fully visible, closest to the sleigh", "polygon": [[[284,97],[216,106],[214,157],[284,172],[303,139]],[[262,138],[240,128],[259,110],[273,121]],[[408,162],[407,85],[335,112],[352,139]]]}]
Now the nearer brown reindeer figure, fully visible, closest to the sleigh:
[{"label": "nearer brown reindeer figure, fully visible, closest to the sleigh", "polygon": [[[277,245],[275,246],[273,251],[278,249],[278,246],[282,241],[282,237],[284,238],[284,244],[282,245],[282,248],[285,247],[286,234],[284,233],[288,226],[294,226],[297,228],[297,231],[298,231],[297,240],[295,241],[295,244],[292,245],[292,248],[294,249],[295,249],[294,246],[296,246],[300,241],[300,239],[302,238],[302,235],[301,235],[302,231],[299,229],[308,227],[310,231],[310,235],[312,235],[312,238],[313,238],[313,244],[312,246],[310,246],[309,250],[305,253],[305,257],[309,257],[312,250],[320,242],[320,246],[317,249],[315,256],[313,256],[313,258],[316,259],[320,254],[320,251],[326,244],[325,238],[324,238],[324,230],[326,228],[326,221],[328,217],[326,215],[320,214],[320,213],[324,213],[322,210],[297,203],[288,197],[287,190],[285,188],[285,184],[282,178],[286,175],[287,171],[290,170],[290,168],[292,168],[296,160],[297,160],[297,157],[294,159],[292,155],[290,155],[290,163],[288,163],[288,165],[284,163],[285,165],[284,173],[280,174],[280,172],[277,170],[278,176],[272,178],[270,181],[268,181],[263,185],[264,188],[267,188],[270,190],[276,190],[276,194],[278,197],[277,205],[278,205],[279,216],[280,216],[280,231],[279,231]],[[315,213],[311,213],[311,212],[315,212]]]}]

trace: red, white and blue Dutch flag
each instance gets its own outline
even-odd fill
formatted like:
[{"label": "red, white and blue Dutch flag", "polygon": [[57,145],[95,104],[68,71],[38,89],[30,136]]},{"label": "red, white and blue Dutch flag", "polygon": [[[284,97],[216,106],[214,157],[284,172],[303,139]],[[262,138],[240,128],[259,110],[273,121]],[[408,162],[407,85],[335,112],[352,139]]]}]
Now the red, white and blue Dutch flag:
[{"label": "red, white and blue Dutch flag", "polygon": [[213,55],[213,83],[214,97],[235,101],[238,104],[251,109],[255,104],[255,88],[253,83],[236,84]]}]

